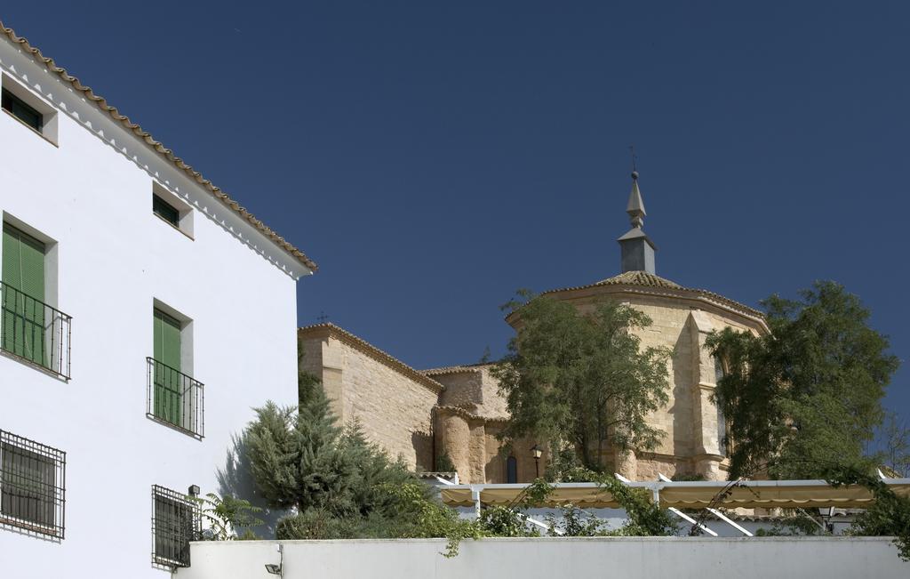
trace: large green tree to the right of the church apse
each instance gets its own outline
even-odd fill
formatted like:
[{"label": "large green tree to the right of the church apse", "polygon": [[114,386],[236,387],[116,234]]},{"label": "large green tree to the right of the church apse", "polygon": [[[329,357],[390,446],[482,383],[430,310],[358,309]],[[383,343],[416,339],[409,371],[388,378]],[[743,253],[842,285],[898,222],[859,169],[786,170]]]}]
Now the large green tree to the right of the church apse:
[{"label": "large green tree to the right of the church apse", "polygon": [[888,340],[831,281],[762,303],[770,335],[727,328],[707,340],[726,370],[714,398],[730,422],[730,479],[817,478],[825,465],[862,462],[898,365]]}]

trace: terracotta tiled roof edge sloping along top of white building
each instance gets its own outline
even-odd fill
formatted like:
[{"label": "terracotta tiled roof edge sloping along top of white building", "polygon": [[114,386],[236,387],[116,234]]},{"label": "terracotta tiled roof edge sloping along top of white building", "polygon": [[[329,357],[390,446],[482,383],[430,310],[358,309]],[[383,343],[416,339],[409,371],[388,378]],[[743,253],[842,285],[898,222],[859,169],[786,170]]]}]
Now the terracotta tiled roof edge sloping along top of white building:
[{"label": "terracotta tiled roof edge sloping along top of white building", "polygon": [[195,180],[204,188],[207,188],[207,190],[215,198],[219,199],[221,202],[227,205],[228,208],[237,213],[241,218],[244,218],[250,225],[252,225],[255,229],[258,229],[260,233],[265,235],[279,248],[287,251],[288,254],[293,256],[308,269],[312,271],[319,269],[319,266],[316,264],[316,262],[312,259],[309,259],[307,255],[303,253],[303,251],[297,249],[288,240],[279,236],[278,233],[270,229],[265,223],[256,218],[246,208],[242,207],[237,201],[235,201],[233,198],[230,198],[227,193],[225,193],[221,188],[217,188],[212,184],[211,181],[209,181],[207,178],[204,178],[202,174],[200,174],[196,169],[187,165],[182,158],[177,157],[174,154],[174,151],[162,145],[159,141],[155,140],[155,138],[152,137],[152,135],[145,129],[129,120],[129,117],[126,117],[126,115],[121,115],[120,111],[118,111],[116,107],[111,107],[108,105],[106,99],[103,96],[97,96],[89,86],[85,86],[79,82],[79,79],[76,78],[76,76],[70,75],[68,72],[66,72],[65,68],[57,66],[53,58],[44,56],[41,53],[40,49],[29,44],[28,40],[26,40],[24,37],[16,36],[15,31],[12,28],[8,28],[2,20],[0,20],[0,29],[3,30],[5,35],[8,36],[14,44],[22,46],[26,52],[35,56],[36,59],[44,63],[49,71],[55,73],[57,76],[60,76],[60,78],[72,85],[73,88],[75,88],[77,91],[84,94],[89,101],[94,102],[98,108],[106,112],[116,122],[123,125],[123,127],[126,127],[127,130],[132,131],[136,137],[142,138],[147,143],[147,145],[154,148],[162,157],[165,157],[174,166],[183,170],[190,178]]}]

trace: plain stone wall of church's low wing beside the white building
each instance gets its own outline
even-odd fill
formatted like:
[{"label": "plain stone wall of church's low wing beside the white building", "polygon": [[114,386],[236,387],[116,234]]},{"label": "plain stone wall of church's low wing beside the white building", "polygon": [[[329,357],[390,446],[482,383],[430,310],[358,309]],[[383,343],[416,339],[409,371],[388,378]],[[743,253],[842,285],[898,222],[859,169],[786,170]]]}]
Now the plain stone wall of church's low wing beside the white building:
[{"label": "plain stone wall of church's low wing beside the white building", "polygon": [[302,366],[322,380],[340,422],[355,418],[370,442],[411,469],[433,470],[432,409],[439,394],[333,335],[301,337]]}]

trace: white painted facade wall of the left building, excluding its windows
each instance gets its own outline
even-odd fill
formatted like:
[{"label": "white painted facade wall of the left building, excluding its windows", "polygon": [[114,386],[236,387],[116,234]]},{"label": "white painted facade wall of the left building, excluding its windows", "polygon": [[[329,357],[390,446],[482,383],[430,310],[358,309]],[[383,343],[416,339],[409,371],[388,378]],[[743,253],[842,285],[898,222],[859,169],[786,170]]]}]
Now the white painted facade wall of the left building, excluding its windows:
[{"label": "white painted facade wall of the left building, excluding its windows", "polygon": [[[5,36],[0,71],[62,111],[58,147],[0,113],[0,211],[56,239],[56,305],[73,316],[68,383],[0,356],[0,429],[67,458],[66,539],[0,528],[0,576],[167,576],[151,565],[151,486],[217,491],[251,407],[294,403],[308,271]],[[195,239],[152,214],[153,178],[194,209]],[[156,299],[193,320],[202,441],[146,417]]]}]

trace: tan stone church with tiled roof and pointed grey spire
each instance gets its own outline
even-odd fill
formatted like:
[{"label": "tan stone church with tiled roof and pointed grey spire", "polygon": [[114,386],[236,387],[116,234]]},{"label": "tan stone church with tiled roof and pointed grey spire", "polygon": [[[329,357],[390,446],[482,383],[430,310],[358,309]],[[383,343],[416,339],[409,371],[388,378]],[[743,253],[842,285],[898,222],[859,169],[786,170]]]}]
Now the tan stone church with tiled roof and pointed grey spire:
[{"label": "tan stone church with tiled roof and pointed grey spire", "polygon": [[[758,310],[656,275],[656,248],[642,230],[645,210],[636,172],[626,212],[632,227],[618,239],[621,273],[544,294],[582,312],[604,299],[642,310],[653,322],[637,330],[642,347],[672,351],[669,401],[649,417],[664,432],[662,441],[650,452],[616,452],[615,470],[639,481],[656,480],[658,472],[723,480],[724,421],[710,398],[723,369],[704,349],[704,340],[725,327],[755,334],[768,327]],[[513,328],[519,313],[506,319]],[[538,466],[542,472],[546,453],[536,465],[534,441],[516,443],[511,453],[501,449],[496,434],[509,412],[490,364],[415,370],[330,323],[299,329],[298,340],[302,369],[322,381],[340,420],[356,417],[370,441],[411,467],[437,470],[438,458],[446,454],[462,483],[525,483]]]}]

